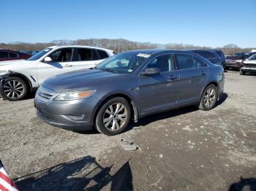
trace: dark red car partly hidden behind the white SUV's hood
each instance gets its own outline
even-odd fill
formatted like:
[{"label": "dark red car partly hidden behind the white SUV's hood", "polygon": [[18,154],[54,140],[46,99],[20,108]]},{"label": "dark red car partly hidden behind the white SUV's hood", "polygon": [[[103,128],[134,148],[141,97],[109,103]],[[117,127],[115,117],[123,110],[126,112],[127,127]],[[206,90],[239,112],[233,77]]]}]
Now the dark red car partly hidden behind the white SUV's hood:
[{"label": "dark red car partly hidden behind the white SUV's hood", "polygon": [[26,60],[31,55],[14,50],[0,50],[0,61]]}]

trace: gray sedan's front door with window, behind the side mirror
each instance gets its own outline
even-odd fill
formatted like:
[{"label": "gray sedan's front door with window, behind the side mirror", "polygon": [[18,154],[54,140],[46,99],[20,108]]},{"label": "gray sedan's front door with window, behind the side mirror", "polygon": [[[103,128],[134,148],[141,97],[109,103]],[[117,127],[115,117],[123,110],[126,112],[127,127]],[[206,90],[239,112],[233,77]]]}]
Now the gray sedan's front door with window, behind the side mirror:
[{"label": "gray sedan's front door with window, behind the side mirror", "polygon": [[173,55],[159,55],[148,63],[148,68],[160,69],[160,74],[140,75],[140,113],[147,114],[176,106],[178,74]]}]

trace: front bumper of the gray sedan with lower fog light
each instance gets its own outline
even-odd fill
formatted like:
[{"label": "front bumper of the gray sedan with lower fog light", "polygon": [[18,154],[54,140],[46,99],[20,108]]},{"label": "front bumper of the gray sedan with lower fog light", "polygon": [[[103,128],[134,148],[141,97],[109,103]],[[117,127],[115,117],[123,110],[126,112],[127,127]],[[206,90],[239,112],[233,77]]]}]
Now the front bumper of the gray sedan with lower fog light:
[{"label": "front bumper of the gray sedan with lower fog light", "polygon": [[91,130],[98,101],[94,96],[73,101],[44,101],[36,95],[34,106],[37,117],[50,125],[67,130]]}]

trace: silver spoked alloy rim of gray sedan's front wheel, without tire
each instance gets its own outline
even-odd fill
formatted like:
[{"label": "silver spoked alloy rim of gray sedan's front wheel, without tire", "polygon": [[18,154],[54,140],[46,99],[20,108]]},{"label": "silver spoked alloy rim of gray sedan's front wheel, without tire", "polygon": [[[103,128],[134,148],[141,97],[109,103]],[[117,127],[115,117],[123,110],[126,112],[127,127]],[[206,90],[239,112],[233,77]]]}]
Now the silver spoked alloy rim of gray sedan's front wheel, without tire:
[{"label": "silver spoked alloy rim of gray sedan's front wheel, without tire", "polygon": [[127,122],[127,108],[120,103],[111,104],[103,115],[103,124],[109,130],[118,130]]}]

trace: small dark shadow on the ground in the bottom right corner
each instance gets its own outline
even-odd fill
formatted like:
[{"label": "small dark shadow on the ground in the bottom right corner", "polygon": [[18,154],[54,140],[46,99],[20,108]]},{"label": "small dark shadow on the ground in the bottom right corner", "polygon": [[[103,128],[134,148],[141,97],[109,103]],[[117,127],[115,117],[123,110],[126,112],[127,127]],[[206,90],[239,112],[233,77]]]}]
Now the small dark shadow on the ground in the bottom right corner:
[{"label": "small dark shadow on the ground in the bottom right corner", "polygon": [[249,179],[243,179],[241,177],[239,182],[235,182],[230,185],[230,189],[228,191],[255,191],[256,190],[256,179],[255,178],[249,178]]}]

